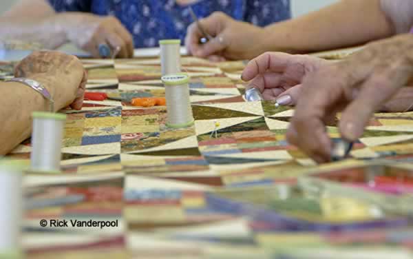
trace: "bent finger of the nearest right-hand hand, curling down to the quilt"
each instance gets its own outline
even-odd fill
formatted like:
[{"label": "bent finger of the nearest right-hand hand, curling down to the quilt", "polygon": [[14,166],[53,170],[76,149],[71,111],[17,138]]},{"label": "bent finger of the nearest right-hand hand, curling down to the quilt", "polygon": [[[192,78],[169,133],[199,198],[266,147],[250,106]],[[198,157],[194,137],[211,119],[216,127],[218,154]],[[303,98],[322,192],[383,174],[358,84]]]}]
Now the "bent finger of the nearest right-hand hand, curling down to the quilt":
[{"label": "bent finger of the nearest right-hand hand, curling down to the quilt", "polygon": [[335,65],[306,76],[291,121],[297,132],[297,145],[310,157],[319,161],[330,160],[331,142],[326,133],[326,118],[343,99],[343,85],[354,84],[354,78],[346,70]]}]

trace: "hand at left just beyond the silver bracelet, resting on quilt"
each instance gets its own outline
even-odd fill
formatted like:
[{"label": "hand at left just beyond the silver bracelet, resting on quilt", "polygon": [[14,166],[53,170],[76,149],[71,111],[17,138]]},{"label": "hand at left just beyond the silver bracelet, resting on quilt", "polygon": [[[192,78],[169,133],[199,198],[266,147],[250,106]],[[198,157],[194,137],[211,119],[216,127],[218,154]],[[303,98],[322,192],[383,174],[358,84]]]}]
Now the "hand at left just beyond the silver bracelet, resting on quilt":
[{"label": "hand at left just beyond the silver bracelet, resting on quilt", "polygon": [[57,110],[67,105],[81,110],[87,74],[76,56],[55,51],[33,52],[17,64],[14,76],[45,85]]}]

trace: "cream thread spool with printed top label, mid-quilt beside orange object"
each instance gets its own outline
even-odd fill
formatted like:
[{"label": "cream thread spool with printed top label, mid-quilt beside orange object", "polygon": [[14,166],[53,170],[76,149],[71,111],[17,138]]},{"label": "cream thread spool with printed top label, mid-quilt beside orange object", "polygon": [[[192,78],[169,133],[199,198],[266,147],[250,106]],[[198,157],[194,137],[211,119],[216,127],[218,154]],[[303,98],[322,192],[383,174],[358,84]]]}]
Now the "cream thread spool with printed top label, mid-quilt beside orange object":
[{"label": "cream thread spool with printed top label, mid-quilt beside orange object", "polygon": [[189,76],[169,74],[162,76],[167,98],[167,126],[173,128],[193,125],[191,101],[189,100]]}]

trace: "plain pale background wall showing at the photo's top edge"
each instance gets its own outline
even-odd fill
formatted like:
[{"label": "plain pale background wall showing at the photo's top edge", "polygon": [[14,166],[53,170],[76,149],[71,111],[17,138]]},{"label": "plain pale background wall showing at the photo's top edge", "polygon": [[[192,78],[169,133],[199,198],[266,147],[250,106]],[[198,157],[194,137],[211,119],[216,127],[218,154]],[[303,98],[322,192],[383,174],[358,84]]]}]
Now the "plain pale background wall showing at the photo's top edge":
[{"label": "plain pale background wall showing at the photo's top edge", "polygon": [[[13,3],[18,0],[0,0],[0,14],[6,12]],[[155,0],[156,1],[156,0]],[[208,1],[208,0],[207,0]],[[317,10],[330,3],[334,3],[337,0],[292,0],[293,1],[293,16],[297,17],[301,14],[305,14],[311,10]]]}]

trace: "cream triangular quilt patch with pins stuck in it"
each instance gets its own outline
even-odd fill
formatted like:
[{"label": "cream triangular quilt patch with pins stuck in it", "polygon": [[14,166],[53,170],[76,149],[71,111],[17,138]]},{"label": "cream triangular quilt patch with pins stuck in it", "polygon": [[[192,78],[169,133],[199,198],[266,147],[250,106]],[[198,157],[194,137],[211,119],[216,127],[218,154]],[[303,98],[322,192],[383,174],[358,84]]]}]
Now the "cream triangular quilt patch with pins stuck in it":
[{"label": "cream triangular quilt patch with pins stuck in it", "polygon": [[[195,113],[194,113],[195,114]],[[226,127],[231,127],[233,125],[239,125],[247,121],[252,121],[259,116],[249,116],[249,117],[238,117],[238,118],[219,118],[216,120],[204,120],[204,121],[195,121],[195,132],[197,136],[212,132],[213,130],[222,130]],[[220,126],[215,129],[215,122],[220,123]]]}]

